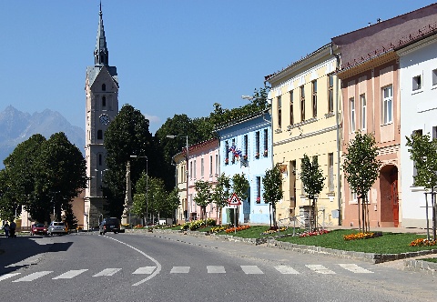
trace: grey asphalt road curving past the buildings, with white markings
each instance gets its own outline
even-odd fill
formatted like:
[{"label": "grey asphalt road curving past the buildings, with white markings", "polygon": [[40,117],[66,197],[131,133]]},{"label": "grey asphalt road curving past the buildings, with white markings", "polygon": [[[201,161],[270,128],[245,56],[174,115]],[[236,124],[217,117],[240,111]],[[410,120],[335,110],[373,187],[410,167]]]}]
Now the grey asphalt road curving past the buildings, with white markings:
[{"label": "grey asphalt road curving past the buildings, with white markings", "polygon": [[435,301],[437,277],[181,234],[0,238],[4,301]]}]

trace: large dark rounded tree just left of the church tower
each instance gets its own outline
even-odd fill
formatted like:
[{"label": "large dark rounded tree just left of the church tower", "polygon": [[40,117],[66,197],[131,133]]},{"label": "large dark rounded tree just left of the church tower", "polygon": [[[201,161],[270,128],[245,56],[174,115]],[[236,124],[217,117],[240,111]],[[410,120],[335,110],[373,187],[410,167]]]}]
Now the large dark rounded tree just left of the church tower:
[{"label": "large dark rounded tree just left of the church tower", "polygon": [[[55,220],[60,221],[61,211],[67,210],[69,202],[86,186],[86,162],[80,150],[71,144],[63,132],[58,132],[41,146],[36,159],[37,196],[52,196]],[[41,206],[35,199],[29,210],[33,215]]]}]

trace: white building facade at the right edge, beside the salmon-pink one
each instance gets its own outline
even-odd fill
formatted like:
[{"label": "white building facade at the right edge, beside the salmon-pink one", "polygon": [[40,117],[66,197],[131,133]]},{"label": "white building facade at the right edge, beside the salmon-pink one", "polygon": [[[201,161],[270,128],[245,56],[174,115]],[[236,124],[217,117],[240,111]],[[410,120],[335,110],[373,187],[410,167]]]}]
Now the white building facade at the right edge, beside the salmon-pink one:
[{"label": "white building facade at the right edge, beside the salmon-pink one", "polygon": [[396,52],[401,84],[402,227],[426,228],[426,217],[432,226],[431,196],[427,209],[425,188],[414,185],[416,171],[406,147],[406,136],[415,133],[437,138],[437,36],[435,31],[428,34]]}]

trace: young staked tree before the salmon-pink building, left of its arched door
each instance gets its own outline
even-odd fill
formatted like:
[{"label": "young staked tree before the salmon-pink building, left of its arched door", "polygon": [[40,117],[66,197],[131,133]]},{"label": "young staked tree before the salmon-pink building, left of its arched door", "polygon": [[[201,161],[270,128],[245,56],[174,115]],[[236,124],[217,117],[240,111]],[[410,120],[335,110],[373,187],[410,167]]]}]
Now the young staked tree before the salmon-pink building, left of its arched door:
[{"label": "young staked tree before the salmon-pink building, left of its arched door", "polygon": [[375,136],[371,133],[361,134],[360,131],[357,131],[355,138],[347,147],[347,154],[344,156],[342,165],[346,181],[353,192],[361,198],[361,217],[359,203],[358,221],[361,231],[362,219],[363,232],[368,232],[370,227],[369,207],[367,206],[368,192],[378,178],[381,166],[381,161],[376,156],[378,156],[378,147]]}]

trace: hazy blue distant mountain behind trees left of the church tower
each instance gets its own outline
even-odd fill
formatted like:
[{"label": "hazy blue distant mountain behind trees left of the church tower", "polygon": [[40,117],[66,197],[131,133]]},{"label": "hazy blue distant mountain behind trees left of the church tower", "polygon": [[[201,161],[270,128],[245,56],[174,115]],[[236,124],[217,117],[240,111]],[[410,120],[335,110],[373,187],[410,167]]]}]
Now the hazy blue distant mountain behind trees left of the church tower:
[{"label": "hazy blue distant mountain behind trees left of the church tower", "polygon": [[47,139],[57,132],[64,132],[70,143],[76,145],[85,156],[85,130],[72,126],[64,116],[49,109],[33,115],[7,106],[0,112],[0,168],[3,160],[30,136],[40,134]]}]

